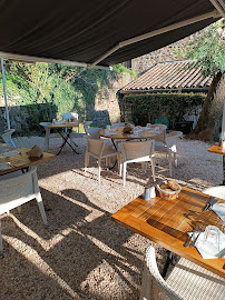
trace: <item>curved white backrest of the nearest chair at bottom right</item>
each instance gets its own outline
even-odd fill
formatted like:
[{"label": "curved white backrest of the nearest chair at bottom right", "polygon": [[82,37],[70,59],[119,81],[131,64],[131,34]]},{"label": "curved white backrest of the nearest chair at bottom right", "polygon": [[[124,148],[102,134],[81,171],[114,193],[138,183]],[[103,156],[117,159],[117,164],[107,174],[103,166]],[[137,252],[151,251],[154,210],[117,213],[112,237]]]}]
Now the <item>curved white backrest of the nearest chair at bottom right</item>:
[{"label": "curved white backrest of the nearest chair at bottom right", "polygon": [[183,300],[163,279],[156,262],[154,247],[148,247],[145,253],[145,269],[139,300]]}]

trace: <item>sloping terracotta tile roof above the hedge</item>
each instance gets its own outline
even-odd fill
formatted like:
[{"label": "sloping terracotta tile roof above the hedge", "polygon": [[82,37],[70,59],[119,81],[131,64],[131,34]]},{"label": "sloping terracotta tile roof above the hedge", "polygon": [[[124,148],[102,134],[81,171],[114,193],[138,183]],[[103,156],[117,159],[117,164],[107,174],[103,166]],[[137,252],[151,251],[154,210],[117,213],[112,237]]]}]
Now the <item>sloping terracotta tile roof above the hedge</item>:
[{"label": "sloping terracotta tile roof above the hedge", "polygon": [[168,61],[157,63],[120,92],[206,91],[212,78],[204,78],[196,61]]}]

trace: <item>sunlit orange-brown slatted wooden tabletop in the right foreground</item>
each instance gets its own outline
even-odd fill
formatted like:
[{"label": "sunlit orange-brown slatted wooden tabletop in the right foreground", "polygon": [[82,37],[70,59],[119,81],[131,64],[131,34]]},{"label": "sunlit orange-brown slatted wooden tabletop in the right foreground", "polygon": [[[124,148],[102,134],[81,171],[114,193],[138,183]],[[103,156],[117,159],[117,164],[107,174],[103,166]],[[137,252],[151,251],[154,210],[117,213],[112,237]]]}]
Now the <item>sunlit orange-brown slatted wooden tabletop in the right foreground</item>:
[{"label": "sunlit orange-brown slatted wooden tabletop in the right foreground", "polygon": [[[209,271],[225,278],[225,259],[203,259],[196,248],[185,248],[187,232],[196,222],[203,228],[208,224],[222,227],[217,214],[203,211],[211,197],[195,190],[183,188],[176,200],[156,197],[149,201],[135,199],[111,216],[123,227],[146,237],[165,249],[184,257]],[[224,202],[224,200],[219,200]]]}]

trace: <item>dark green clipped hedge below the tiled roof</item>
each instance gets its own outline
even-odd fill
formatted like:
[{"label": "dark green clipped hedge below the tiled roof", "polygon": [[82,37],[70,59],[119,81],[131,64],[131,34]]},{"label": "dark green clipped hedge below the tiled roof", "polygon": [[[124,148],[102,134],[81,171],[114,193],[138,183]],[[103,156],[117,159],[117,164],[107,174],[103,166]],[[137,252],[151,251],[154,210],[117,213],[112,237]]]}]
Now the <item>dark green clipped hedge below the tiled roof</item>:
[{"label": "dark green clipped hedge below the tiled roof", "polygon": [[188,109],[202,106],[205,96],[199,93],[144,93],[121,98],[124,119],[146,126],[156,119],[168,119],[168,127],[182,121]]}]

